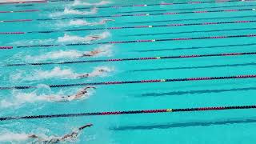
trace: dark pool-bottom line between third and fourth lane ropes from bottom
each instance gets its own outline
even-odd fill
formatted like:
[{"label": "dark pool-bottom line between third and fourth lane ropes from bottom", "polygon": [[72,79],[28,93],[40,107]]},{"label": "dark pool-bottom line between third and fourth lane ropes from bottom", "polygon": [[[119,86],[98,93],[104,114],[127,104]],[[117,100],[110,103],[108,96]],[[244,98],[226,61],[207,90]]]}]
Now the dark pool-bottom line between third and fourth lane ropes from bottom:
[{"label": "dark pool-bottom line between third and fourth lane ropes from bottom", "polygon": [[255,46],[256,43],[244,43],[236,45],[220,45],[220,46],[193,46],[193,47],[181,47],[181,48],[170,48],[170,49],[152,49],[152,50],[133,50],[133,52],[154,52],[154,51],[175,51],[175,50],[197,50],[197,49],[211,49],[211,48],[225,48],[225,47],[236,47],[236,46]]}]

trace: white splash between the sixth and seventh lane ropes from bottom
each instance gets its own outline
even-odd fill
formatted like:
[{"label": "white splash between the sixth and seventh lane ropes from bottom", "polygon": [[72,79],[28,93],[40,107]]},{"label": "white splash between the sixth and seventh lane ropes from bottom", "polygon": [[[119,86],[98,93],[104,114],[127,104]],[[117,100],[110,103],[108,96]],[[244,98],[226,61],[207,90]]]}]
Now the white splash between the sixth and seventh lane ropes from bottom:
[{"label": "white splash between the sixth and seventh lane ropes from bottom", "polygon": [[50,14],[50,17],[60,17],[63,15],[89,15],[89,14],[97,14],[97,12],[98,12],[98,9],[95,7],[90,11],[79,11],[79,10],[73,10],[66,7],[63,12]]}]

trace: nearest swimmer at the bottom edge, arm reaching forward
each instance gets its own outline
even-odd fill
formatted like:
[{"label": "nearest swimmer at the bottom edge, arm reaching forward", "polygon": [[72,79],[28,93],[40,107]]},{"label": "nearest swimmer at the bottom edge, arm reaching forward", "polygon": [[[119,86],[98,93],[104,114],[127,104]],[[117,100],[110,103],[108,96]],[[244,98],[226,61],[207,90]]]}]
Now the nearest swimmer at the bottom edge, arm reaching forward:
[{"label": "nearest swimmer at the bottom edge, arm reaching forward", "polygon": [[65,142],[66,140],[72,139],[72,138],[77,138],[78,137],[78,133],[85,129],[86,127],[90,127],[93,126],[93,124],[87,124],[85,126],[81,126],[78,128],[78,130],[73,131],[71,134],[65,134],[62,137],[50,137],[50,138],[40,138],[38,135],[36,134],[30,134],[28,135],[28,138],[34,138],[37,139],[39,143],[57,143],[57,142]]}]

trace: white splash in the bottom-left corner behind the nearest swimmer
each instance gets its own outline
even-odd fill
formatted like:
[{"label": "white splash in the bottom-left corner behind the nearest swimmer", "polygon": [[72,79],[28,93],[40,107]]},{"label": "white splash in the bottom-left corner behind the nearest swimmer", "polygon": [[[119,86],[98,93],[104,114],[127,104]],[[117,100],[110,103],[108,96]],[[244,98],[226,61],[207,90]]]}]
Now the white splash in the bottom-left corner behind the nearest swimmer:
[{"label": "white splash in the bottom-left corner behind the nearest swimmer", "polygon": [[0,142],[20,142],[26,141],[28,139],[28,134],[16,134],[12,132],[6,132],[4,134],[0,134]]}]

